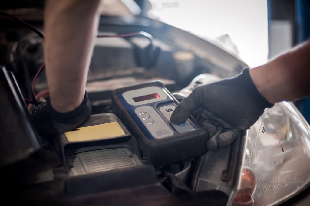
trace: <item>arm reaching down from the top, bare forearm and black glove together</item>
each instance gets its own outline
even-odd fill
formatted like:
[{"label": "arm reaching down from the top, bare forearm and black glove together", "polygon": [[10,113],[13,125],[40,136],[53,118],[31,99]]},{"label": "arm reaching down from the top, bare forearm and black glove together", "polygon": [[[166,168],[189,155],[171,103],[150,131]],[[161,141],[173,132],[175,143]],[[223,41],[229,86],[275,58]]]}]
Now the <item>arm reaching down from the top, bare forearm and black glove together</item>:
[{"label": "arm reaching down from the top, bare forearm and black glove together", "polygon": [[50,98],[35,107],[33,122],[43,136],[70,131],[91,115],[85,91],[98,29],[100,0],[47,0],[44,56]]}]

